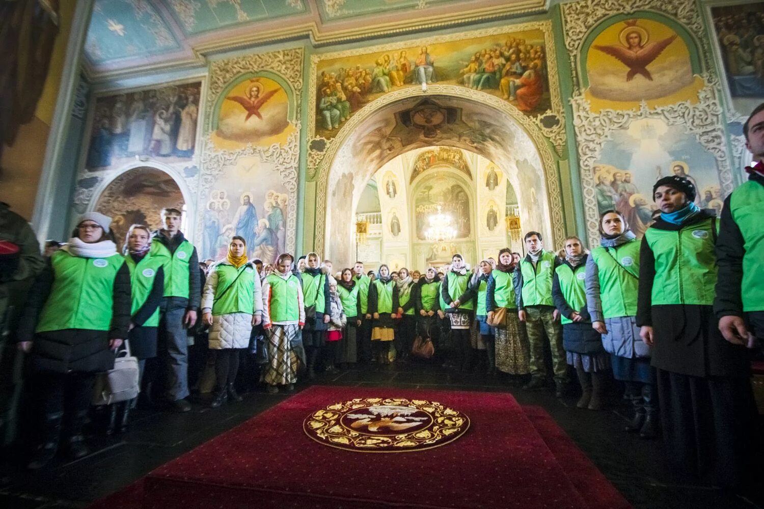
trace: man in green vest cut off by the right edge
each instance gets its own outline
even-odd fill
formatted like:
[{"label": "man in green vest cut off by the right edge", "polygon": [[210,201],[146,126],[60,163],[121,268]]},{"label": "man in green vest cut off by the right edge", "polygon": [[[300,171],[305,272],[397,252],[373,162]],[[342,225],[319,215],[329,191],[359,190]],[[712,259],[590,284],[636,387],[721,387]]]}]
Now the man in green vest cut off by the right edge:
[{"label": "man in green vest cut off by the right edge", "polygon": [[724,200],[716,243],[719,272],[714,311],[733,344],[764,338],[764,103],[743,124],[753,164],[748,182]]}]

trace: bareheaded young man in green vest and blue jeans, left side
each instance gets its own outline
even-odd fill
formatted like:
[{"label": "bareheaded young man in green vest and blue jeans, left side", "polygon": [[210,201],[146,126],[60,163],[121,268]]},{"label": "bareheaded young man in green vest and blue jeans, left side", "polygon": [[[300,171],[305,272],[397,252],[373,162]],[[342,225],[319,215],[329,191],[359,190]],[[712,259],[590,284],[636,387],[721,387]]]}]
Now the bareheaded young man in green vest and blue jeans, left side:
[{"label": "bareheaded young man in green vest and blue jeans, left side", "polygon": [[199,257],[180,231],[181,212],[162,209],[164,228],[156,230],[151,253],[165,256],[164,296],[160,305],[159,348],[163,364],[165,397],[178,412],[191,410],[188,388],[188,329],[196,324],[202,298]]}]

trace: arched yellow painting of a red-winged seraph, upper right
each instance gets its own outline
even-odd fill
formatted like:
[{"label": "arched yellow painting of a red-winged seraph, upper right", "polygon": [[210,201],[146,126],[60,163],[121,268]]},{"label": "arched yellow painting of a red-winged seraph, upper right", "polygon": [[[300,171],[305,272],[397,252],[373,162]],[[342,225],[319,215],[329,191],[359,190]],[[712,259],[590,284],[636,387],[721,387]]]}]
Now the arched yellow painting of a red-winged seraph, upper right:
[{"label": "arched yellow painting of a red-winged seraph, upper right", "polygon": [[659,21],[614,21],[585,54],[585,95],[592,111],[633,108],[640,101],[650,106],[697,102],[703,88],[703,80],[694,76],[685,40]]}]

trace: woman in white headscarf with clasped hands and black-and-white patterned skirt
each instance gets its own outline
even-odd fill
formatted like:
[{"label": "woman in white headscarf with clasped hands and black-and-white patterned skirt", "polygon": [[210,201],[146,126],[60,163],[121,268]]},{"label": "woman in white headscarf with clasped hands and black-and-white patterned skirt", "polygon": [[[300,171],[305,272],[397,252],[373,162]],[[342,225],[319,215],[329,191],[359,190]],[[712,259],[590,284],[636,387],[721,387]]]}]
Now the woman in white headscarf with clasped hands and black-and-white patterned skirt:
[{"label": "woman in white headscarf with clasped hands and black-and-white patterned skirt", "polygon": [[470,326],[474,315],[474,292],[468,288],[469,282],[465,260],[457,253],[452,256],[451,269],[443,278],[441,295],[448,306],[445,312],[451,318],[454,366],[460,371],[469,369],[472,353]]}]

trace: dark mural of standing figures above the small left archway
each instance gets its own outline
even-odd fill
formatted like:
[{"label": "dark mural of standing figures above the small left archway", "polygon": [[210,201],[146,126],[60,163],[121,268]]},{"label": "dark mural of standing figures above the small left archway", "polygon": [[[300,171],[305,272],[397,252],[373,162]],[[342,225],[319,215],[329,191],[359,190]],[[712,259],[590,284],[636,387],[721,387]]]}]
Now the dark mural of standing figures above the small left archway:
[{"label": "dark mural of standing figures above the small left archway", "polygon": [[190,161],[196,150],[201,82],[107,95],[95,100],[86,169],[121,166],[135,156]]}]

